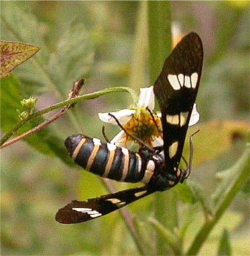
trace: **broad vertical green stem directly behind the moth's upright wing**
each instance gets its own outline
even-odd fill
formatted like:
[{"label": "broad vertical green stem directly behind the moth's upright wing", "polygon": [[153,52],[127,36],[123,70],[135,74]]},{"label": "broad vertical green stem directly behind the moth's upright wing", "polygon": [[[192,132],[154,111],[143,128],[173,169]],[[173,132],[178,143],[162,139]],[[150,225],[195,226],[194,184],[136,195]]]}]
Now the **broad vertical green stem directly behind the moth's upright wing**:
[{"label": "broad vertical green stem directly behind the moth's upright wing", "polygon": [[[149,67],[151,84],[162,70],[164,60],[172,50],[170,1],[149,1]],[[155,218],[170,230],[176,227],[176,195],[172,190],[155,196]],[[164,238],[156,233],[156,255],[172,255]]]}]

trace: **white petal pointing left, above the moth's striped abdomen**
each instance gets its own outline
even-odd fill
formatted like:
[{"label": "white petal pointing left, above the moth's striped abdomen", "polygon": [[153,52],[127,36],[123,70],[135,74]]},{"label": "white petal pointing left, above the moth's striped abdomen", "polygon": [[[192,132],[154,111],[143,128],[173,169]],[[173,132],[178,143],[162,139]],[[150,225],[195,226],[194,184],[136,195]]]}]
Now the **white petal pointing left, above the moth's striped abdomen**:
[{"label": "white petal pointing left, above the moth's striped abdomen", "polygon": [[[121,123],[121,125],[125,125],[132,117],[132,115],[135,113],[135,110],[133,109],[121,109],[120,111],[116,112],[109,112],[112,115],[114,115],[118,121]],[[117,125],[117,122],[113,117],[109,115],[109,113],[98,113],[99,119],[105,123],[111,123],[112,125]]]}]

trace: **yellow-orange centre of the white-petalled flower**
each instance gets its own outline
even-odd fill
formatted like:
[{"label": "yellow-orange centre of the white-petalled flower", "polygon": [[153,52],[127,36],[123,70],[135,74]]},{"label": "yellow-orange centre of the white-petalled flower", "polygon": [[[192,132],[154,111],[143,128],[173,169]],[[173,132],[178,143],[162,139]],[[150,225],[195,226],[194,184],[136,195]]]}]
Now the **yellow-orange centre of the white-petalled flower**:
[{"label": "yellow-orange centre of the white-petalled flower", "polygon": [[[155,121],[151,117],[149,111],[141,110],[138,111],[131,117],[129,122],[124,125],[127,133],[134,135],[135,137],[144,141],[149,147],[153,147],[154,137],[162,136],[159,130],[162,129],[160,118],[153,114]],[[138,143],[133,138],[125,135],[125,144],[129,141]]]}]

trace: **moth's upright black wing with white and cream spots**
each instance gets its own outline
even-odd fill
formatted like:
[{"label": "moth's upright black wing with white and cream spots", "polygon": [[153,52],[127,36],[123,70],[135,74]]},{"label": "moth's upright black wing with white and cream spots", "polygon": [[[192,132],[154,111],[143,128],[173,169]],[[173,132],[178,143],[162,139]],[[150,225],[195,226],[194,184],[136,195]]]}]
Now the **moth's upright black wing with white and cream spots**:
[{"label": "moth's upright black wing with white and cream spots", "polygon": [[188,123],[200,84],[202,61],[202,40],[198,34],[190,32],[166,58],[154,85],[162,114],[164,156],[168,172],[174,172],[173,168],[178,167],[182,157]]}]

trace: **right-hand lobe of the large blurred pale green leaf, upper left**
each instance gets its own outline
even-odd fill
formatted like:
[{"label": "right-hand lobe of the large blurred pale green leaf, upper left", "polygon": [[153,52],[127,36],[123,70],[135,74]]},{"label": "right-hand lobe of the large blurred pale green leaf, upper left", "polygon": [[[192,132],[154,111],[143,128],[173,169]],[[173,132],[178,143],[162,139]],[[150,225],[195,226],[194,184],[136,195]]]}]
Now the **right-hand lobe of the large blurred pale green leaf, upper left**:
[{"label": "right-hand lobe of the large blurred pale green leaf, upper left", "polygon": [[71,24],[54,45],[55,52],[50,55],[48,74],[56,90],[66,97],[74,80],[83,76],[88,78],[94,61],[94,48],[90,35],[83,25]]}]

